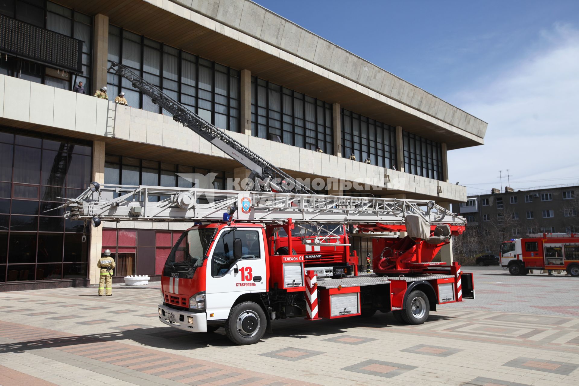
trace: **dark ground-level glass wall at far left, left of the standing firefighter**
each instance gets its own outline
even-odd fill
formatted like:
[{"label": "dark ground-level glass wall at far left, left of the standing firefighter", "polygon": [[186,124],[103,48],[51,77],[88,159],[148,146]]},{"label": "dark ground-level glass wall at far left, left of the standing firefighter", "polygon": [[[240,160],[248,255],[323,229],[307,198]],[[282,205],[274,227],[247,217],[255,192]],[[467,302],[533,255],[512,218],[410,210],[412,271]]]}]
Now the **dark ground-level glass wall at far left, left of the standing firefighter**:
[{"label": "dark ground-level glass wall at far left, left of the standing firefighter", "polygon": [[87,277],[83,223],[46,211],[85,190],[91,167],[89,142],[0,127],[0,282]]}]

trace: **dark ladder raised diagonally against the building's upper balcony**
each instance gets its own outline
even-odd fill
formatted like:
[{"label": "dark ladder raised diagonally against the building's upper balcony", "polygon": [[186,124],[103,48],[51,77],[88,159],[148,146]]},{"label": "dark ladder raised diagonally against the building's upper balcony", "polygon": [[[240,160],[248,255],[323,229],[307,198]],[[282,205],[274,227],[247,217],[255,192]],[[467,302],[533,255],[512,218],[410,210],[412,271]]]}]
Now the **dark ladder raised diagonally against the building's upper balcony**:
[{"label": "dark ladder raised diagonally against the building's upper balcony", "polygon": [[122,64],[111,62],[109,71],[113,68],[116,74],[129,80],[135,89],[148,95],[154,104],[161,106],[173,114],[173,120],[199,134],[201,138],[206,139],[226,155],[232,157],[232,159],[238,161],[250,170],[250,178],[256,181],[256,183],[255,186],[248,188],[252,190],[265,190],[267,192],[273,190],[276,192],[316,194],[284,171],[275,167],[269,161],[266,161],[232,137],[229,137],[223,130],[213,126],[197,114],[191,112],[184,105],[163,93],[163,91],[159,90],[153,84],[142,79],[129,68],[124,67]]}]

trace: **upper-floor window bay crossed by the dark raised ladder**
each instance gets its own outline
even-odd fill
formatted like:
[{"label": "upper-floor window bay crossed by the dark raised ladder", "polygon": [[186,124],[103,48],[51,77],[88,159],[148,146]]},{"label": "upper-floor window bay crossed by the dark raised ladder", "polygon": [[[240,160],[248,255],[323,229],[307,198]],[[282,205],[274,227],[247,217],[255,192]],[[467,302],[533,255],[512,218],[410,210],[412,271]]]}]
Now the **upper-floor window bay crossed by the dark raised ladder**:
[{"label": "upper-floor window bay crossed by the dark raised ladder", "polygon": [[[109,25],[108,60],[121,63],[219,128],[239,131],[239,71],[145,36]],[[108,95],[124,92],[129,106],[160,113],[159,106],[108,74]],[[167,111],[163,114],[170,115]]]}]

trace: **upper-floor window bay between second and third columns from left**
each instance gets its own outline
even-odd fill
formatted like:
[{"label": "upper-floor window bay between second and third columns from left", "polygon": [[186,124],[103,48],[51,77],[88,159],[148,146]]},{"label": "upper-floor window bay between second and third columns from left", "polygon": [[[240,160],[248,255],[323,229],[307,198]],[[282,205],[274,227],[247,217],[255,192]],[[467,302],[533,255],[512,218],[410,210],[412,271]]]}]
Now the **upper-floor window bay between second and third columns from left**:
[{"label": "upper-floor window bay between second and third columns from left", "polygon": [[332,105],[252,76],[251,135],[334,154]]}]

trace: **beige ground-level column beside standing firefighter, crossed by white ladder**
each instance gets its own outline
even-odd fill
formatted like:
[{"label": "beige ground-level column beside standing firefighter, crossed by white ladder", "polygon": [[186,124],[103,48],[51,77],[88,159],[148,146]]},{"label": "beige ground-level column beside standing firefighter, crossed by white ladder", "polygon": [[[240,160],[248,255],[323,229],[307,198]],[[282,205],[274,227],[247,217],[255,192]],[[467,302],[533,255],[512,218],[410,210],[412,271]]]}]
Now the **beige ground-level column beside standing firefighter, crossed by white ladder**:
[{"label": "beige ground-level column beside standing firefighter, crossed by white ladder", "polygon": [[[93,178],[98,183],[105,182],[105,142],[93,141]],[[90,225],[89,225],[90,226]],[[101,257],[102,249],[102,225],[90,229],[89,244],[89,280],[90,284],[98,284],[100,270],[97,261]]]}]

